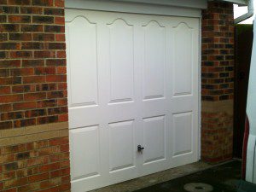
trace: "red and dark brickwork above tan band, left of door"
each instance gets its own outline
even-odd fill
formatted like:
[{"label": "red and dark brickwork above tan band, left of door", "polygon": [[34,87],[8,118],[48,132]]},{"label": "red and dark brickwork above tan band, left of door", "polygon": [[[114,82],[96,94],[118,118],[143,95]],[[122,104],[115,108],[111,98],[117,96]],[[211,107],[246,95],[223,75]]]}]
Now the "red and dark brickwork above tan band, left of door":
[{"label": "red and dark brickwork above tan band, left of door", "polygon": [[0,0],[0,130],[67,121],[63,3]]}]

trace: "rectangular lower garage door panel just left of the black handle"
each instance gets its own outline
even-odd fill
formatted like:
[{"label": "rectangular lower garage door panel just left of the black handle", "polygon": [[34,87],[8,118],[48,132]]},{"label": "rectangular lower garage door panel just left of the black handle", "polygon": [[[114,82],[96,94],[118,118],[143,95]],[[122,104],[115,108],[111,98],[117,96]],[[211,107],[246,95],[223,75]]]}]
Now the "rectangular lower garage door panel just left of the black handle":
[{"label": "rectangular lower garage door panel just left of the black handle", "polygon": [[109,172],[135,167],[134,120],[109,124]]}]

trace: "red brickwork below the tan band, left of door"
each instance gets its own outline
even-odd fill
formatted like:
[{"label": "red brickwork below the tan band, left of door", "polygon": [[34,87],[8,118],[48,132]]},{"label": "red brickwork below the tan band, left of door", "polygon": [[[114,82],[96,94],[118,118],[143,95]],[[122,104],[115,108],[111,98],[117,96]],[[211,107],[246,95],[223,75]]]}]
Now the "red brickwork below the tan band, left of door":
[{"label": "red brickwork below the tan band, left of door", "polygon": [[70,189],[68,137],[0,146],[0,165],[2,192]]}]

